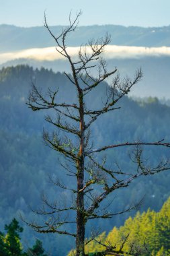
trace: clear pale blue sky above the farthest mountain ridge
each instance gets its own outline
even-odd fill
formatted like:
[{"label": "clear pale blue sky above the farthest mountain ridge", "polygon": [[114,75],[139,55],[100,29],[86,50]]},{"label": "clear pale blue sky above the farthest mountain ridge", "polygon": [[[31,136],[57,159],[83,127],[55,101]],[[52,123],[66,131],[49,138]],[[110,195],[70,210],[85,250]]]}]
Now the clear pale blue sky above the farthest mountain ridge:
[{"label": "clear pale blue sky above the farthest mountain ridge", "polygon": [[170,0],[0,0],[0,24],[65,25],[69,11],[81,9],[80,25],[169,26]]}]

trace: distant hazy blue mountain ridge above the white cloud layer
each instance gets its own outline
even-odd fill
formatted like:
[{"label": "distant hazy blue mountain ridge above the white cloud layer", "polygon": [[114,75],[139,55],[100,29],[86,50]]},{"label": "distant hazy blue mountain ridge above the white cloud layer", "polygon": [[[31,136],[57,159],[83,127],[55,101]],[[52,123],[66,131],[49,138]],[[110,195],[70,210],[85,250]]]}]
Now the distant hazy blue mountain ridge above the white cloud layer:
[{"label": "distant hazy blue mountain ridge above the white cloud layer", "polygon": [[[62,26],[52,26],[58,34]],[[136,26],[93,25],[80,26],[71,34],[69,46],[85,44],[89,38],[98,38],[108,32],[111,44],[127,46],[170,46],[170,26],[142,28]],[[0,53],[22,49],[54,46],[54,40],[43,26],[22,28],[13,25],[0,25]]]}]

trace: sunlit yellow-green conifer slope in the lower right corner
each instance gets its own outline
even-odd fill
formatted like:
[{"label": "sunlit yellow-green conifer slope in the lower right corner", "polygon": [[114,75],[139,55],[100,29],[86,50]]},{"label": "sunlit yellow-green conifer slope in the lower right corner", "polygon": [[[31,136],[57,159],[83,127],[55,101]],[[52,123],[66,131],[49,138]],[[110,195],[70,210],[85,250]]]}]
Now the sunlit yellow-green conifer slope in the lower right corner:
[{"label": "sunlit yellow-green conifer slope in the lower right corner", "polygon": [[[170,197],[160,212],[148,209],[138,212],[134,218],[128,218],[124,226],[114,227],[109,234],[103,232],[86,247],[86,253],[97,253],[105,249],[103,245],[120,249],[125,242],[124,251],[138,251],[142,256],[168,256],[170,252]],[[102,244],[102,245],[101,245]]]}]

